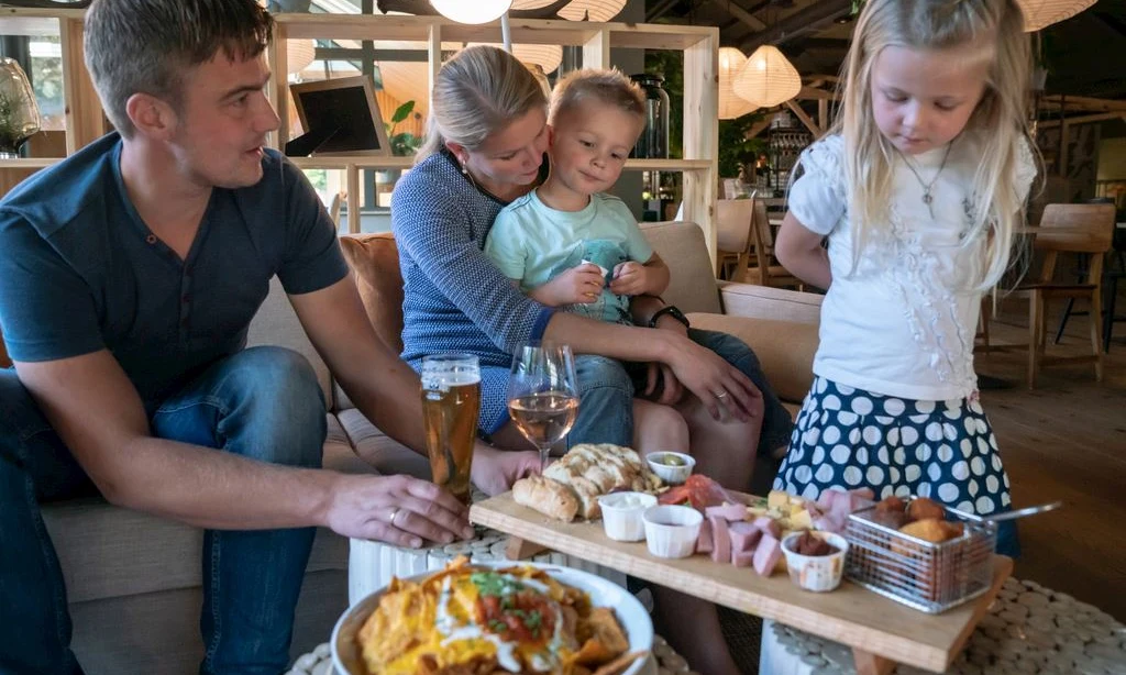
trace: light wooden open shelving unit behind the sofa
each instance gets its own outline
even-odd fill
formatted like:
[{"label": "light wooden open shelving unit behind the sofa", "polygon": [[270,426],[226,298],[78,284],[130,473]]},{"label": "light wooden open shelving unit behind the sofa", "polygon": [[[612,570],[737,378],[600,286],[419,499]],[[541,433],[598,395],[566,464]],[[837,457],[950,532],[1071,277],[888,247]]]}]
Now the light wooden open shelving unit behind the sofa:
[{"label": "light wooden open shelving unit behind the sofa", "polygon": [[[73,153],[100,136],[102,111],[82,63],[82,10],[0,9],[0,35],[9,33],[10,20],[56,19],[60,27],[63,81],[66,106],[66,152]],[[357,16],[280,14],[275,16],[275,39],[267,51],[274,74],[267,86],[282,126],[271,137],[274,147],[289,140],[288,87],[286,73],[287,39],[351,39],[417,42],[428,54],[428,90],[441,66],[441,46],[455,43],[499,43],[500,22],[467,26],[441,17]],[[715,255],[715,200],[718,184],[718,47],[720,30],[701,26],[645,24],[592,24],[564,20],[511,20],[512,42],[549,44],[582,48],[584,68],[609,68],[610,48],[672,50],[685,53],[683,159],[631,160],[632,171],[679,171],[683,174],[683,217],[704,230],[708,249]],[[10,26],[10,24],[9,24]],[[57,160],[9,160],[0,163],[0,174],[42,169]],[[403,170],[410,158],[393,156],[310,156],[294,158],[303,169],[342,170],[348,174],[349,230],[359,231],[359,172],[365,169]]]}]

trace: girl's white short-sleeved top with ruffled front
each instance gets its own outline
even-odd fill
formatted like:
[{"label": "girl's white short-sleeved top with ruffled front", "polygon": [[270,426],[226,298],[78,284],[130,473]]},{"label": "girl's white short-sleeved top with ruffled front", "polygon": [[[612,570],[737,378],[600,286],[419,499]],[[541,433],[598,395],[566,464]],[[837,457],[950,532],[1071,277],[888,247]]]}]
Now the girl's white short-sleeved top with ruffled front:
[{"label": "girl's white short-sleeved top with ruffled front", "polygon": [[[802,154],[804,173],[790,189],[789,210],[810,231],[829,236],[833,278],[821,308],[814,374],[918,400],[965,398],[977,389],[973,346],[981,292],[972,287],[985,237],[967,236],[981,148],[973,135],[963,134],[945,166],[945,146],[910,159],[896,153],[890,227],[868,237],[855,270],[844,141],[826,136]],[[1027,143],[1018,156],[1012,187],[1025,199],[1036,165]],[[931,180],[928,207],[921,181]]]}]

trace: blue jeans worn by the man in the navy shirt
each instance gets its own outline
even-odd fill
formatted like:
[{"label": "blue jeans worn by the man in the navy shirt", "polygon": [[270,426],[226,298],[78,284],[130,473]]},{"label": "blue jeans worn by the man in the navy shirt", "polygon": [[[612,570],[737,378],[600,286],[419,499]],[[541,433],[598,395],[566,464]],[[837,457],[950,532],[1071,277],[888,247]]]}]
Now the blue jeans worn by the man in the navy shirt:
[{"label": "blue jeans worn by the man in the navy shirt", "polygon": [[[162,439],[271,464],[320,467],[324,398],[303,357],[259,346],[216,362],[162,402],[150,424]],[[15,370],[0,370],[0,673],[5,675],[82,672],[70,649],[66,590],[39,504],[83,493],[96,493],[90,479]],[[205,533],[200,673],[285,670],[313,534],[313,528]]]}]

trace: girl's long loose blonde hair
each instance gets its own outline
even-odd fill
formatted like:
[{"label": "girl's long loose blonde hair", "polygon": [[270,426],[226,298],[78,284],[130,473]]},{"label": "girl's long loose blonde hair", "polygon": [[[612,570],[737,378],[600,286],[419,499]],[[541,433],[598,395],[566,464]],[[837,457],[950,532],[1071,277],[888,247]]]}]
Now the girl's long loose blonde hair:
[{"label": "girl's long loose blonde hair", "polygon": [[[833,132],[844,140],[849,219],[855,227],[854,269],[865,244],[888,228],[892,166],[897,151],[873,116],[872,71],[885,47],[977,50],[990,62],[985,93],[966,123],[978,132],[981,163],[973,183],[973,225],[965,241],[986,238],[984,258],[968,281],[980,290],[997,284],[1009,263],[1022,218],[1013,189],[1031,83],[1031,47],[1016,0],[868,0],[841,71],[841,108]],[[1031,145],[1029,145],[1031,147]]]}]

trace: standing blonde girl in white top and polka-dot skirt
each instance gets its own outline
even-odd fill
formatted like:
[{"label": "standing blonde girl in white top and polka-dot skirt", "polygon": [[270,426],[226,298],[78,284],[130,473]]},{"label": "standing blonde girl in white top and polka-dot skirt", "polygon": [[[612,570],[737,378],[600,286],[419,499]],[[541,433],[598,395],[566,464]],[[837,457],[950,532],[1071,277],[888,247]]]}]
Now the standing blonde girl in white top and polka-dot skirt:
[{"label": "standing blonde girl in white top and polka-dot skirt", "polygon": [[[1030,69],[1016,0],[865,4],[838,119],[803,153],[778,234],[781,263],[828,292],[775,487],[1010,507],[973,343],[1036,174]],[[998,549],[1018,548],[1003,529]]]}]

